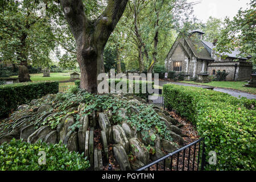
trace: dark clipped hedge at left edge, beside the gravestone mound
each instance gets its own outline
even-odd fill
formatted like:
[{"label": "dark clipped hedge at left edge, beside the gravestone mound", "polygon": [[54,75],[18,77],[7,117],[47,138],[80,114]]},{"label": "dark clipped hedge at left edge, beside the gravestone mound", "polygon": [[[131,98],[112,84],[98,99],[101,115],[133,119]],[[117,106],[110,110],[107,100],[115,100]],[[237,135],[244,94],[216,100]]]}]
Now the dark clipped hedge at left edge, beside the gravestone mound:
[{"label": "dark clipped hedge at left edge, beside the gravestone mound", "polygon": [[32,99],[59,91],[59,82],[26,82],[0,85],[0,117],[11,113],[19,105],[26,104]]}]

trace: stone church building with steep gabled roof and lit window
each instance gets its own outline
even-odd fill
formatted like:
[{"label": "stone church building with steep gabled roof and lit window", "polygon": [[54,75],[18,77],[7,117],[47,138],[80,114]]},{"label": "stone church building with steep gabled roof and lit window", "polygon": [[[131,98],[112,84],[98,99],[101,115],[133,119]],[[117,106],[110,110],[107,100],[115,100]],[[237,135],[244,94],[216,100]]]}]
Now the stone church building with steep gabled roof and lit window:
[{"label": "stone church building with steep gabled roof and lit window", "polygon": [[[183,72],[186,80],[198,77],[200,73],[215,75],[218,70],[228,72],[227,81],[250,80],[252,64],[248,61],[251,56],[237,57],[238,49],[228,53],[222,59],[215,50],[215,42],[203,40],[204,32],[193,30],[191,35],[199,39],[177,36],[164,63],[167,71]],[[237,61],[234,61],[237,60]]]}]

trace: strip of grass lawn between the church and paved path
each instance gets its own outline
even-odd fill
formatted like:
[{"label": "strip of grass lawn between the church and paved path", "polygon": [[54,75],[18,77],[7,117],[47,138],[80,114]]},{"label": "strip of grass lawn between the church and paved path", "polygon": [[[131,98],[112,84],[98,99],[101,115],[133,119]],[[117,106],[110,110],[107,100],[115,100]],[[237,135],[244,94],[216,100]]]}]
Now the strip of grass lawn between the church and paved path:
[{"label": "strip of grass lawn between the church and paved path", "polygon": [[236,90],[241,90],[243,92],[256,94],[256,88],[249,88],[249,87],[243,86],[246,84],[245,81],[211,81],[208,83],[199,83],[194,81],[180,81],[180,82],[184,82],[188,84],[200,84],[200,85],[215,86],[220,88],[236,89]]}]

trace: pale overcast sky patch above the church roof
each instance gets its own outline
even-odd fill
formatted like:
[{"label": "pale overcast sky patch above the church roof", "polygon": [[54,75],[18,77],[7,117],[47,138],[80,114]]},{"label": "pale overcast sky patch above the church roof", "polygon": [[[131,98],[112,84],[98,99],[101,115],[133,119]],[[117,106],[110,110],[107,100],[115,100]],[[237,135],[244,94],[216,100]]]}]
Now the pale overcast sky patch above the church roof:
[{"label": "pale overcast sky patch above the church roof", "polygon": [[220,18],[224,20],[226,16],[233,18],[242,7],[246,9],[246,3],[250,0],[189,0],[189,2],[198,2],[199,4],[194,6],[194,14],[197,19],[207,22],[209,16],[214,18]]}]

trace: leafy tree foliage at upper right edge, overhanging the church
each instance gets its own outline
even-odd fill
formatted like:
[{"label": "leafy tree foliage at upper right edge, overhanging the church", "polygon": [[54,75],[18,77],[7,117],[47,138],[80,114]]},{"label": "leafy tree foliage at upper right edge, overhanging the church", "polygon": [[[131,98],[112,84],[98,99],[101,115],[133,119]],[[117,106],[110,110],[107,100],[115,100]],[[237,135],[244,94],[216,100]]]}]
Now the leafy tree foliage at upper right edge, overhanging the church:
[{"label": "leafy tree foliage at upper right edge, overhanging the church", "polygon": [[241,53],[237,56],[246,57],[249,53],[250,61],[256,64],[256,1],[251,0],[246,10],[240,9],[233,20],[225,18],[224,29],[217,42],[217,51],[224,57],[235,48],[239,48]]}]

